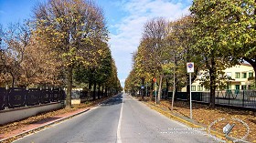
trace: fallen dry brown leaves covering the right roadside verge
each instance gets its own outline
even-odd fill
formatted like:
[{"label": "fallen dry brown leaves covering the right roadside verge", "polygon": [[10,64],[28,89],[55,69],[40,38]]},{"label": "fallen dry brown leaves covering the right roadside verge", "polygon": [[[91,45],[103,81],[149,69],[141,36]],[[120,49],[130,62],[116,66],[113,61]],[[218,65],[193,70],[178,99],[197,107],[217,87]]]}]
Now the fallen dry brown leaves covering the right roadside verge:
[{"label": "fallen dry brown leaves covering the right roadside verge", "polygon": [[[171,102],[169,100],[161,101],[159,107],[171,107]],[[250,128],[249,135],[246,138],[251,142],[256,142],[256,113],[247,110],[230,109],[228,107],[215,107],[208,108],[207,105],[193,103],[193,119],[198,123],[204,124],[207,127],[210,126],[215,120],[223,119],[214,124],[211,128],[214,128],[219,133],[222,133],[222,128],[228,123],[235,124],[234,128],[231,130],[229,137],[242,138],[246,135],[248,128]],[[174,110],[177,114],[189,117],[190,110],[189,104],[183,101],[176,101],[174,105]],[[242,120],[245,124],[241,123]]]}]

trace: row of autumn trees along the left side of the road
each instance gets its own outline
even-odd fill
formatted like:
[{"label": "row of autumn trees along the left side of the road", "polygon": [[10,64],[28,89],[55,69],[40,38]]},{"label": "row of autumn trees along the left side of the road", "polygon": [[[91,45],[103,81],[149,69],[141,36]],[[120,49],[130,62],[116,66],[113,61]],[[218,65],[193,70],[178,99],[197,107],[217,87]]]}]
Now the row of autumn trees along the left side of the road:
[{"label": "row of autumn trees along the left side of the road", "polygon": [[38,3],[24,24],[1,26],[0,86],[121,91],[103,12],[92,1]]}]

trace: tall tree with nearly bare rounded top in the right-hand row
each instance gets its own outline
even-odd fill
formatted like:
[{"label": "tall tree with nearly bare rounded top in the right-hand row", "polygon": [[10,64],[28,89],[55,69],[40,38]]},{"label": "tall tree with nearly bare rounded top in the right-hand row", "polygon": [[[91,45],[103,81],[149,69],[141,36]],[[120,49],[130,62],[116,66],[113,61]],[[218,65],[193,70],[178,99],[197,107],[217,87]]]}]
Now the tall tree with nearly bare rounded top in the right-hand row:
[{"label": "tall tree with nearly bare rounded top in the right-hand row", "polygon": [[[159,81],[159,96],[158,102],[160,101],[161,95],[161,85],[162,85],[162,65],[165,63],[163,55],[165,53],[165,37],[168,34],[168,25],[164,18],[154,18],[148,21],[144,25],[144,33],[142,43],[145,43],[144,48],[146,49],[147,58],[150,60],[145,60],[148,63],[144,63],[153,72],[154,77],[160,76]],[[152,99],[153,93],[151,94]]]}]

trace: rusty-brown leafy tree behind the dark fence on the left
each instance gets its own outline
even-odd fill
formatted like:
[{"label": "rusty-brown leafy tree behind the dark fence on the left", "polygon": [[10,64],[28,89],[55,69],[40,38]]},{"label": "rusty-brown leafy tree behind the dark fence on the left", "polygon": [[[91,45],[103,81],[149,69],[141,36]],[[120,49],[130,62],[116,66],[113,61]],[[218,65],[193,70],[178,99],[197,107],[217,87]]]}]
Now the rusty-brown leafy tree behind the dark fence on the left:
[{"label": "rusty-brown leafy tree behind the dark fence on the left", "polygon": [[61,63],[51,55],[48,48],[39,45],[32,36],[24,51],[20,69],[20,84],[24,87],[62,87]]}]

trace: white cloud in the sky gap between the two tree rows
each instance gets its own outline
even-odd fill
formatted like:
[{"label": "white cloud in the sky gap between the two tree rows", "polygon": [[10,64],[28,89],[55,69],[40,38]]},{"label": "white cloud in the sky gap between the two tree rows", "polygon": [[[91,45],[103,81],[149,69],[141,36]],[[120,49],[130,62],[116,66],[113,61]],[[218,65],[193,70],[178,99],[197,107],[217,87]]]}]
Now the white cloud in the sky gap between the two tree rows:
[{"label": "white cloud in the sky gap between the two tree rows", "polygon": [[127,13],[120,22],[111,26],[116,34],[111,34],[110,40],[112,55],[123,85],[124,78],[132,68],[131,53],[139,46],[146,21],[160,16],[173,21],[182,15],[188,15],[190,5],[166,0],[131,0],[121,1],[115,5],[121,6]]}]

